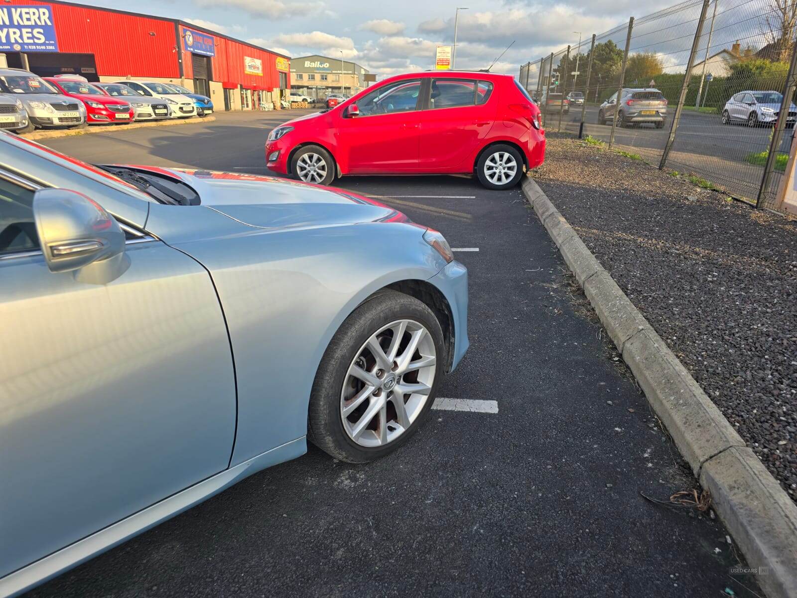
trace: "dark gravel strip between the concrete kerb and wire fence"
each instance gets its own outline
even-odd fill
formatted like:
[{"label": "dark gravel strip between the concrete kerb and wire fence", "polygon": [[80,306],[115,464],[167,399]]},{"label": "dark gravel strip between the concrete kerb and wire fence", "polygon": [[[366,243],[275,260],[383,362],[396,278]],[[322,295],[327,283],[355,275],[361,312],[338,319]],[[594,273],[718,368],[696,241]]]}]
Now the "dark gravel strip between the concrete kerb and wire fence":
[{"label": "dark gravel strip between the concrete kerb and wire fence", "polygon": [[797,502],[797,221],[571,137],[534,177]]}]

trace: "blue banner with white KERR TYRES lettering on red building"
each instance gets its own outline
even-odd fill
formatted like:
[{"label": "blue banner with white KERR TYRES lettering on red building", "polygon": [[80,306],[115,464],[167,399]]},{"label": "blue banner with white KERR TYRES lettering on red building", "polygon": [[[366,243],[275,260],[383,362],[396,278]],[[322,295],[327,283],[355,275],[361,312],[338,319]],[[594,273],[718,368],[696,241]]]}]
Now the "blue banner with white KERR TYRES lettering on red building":
[{"label": "blue banner with white KERR TYRES lettering on red building", "polygon": [[0,52],[57,51],[52,6],[0,6]]}]

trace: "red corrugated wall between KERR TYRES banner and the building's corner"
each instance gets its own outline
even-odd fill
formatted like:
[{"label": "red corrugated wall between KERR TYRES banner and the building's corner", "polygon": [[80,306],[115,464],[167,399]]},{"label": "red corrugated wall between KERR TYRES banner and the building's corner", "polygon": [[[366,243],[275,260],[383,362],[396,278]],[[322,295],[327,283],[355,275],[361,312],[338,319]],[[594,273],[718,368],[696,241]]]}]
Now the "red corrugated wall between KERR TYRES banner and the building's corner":
[{"label": "red corrugated wall between KERR TYRES banner and the building's corner", "polygon": [[52,6],[58,49],[94,54],[98,75],[180,76],[174,22],[55,2],[11,0],[10,3]]}]

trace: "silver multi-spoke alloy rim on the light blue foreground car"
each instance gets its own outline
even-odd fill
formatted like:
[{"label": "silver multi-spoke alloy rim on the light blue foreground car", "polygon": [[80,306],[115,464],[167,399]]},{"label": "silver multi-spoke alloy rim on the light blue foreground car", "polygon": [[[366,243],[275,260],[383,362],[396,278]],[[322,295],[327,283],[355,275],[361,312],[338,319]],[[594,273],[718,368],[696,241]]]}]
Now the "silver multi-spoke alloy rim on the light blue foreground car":
[{"label": "silver multi-spoke alloy rim on the light blue foreground car", "polygon": [[434,386],[434,339],[414,320],[372,334],[351,361],[340,393],[348,437],[362,447],[398,439],[421,414]]}]

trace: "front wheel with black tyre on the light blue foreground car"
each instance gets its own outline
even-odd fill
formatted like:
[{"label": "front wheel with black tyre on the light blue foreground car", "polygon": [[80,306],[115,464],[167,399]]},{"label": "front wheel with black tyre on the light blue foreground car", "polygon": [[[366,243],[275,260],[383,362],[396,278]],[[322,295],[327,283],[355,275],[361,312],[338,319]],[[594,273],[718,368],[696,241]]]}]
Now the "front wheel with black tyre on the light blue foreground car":
[{"label": "front wheel with black tyre on the light blue foreground car", "polygon": [[[401,329],[402,323],[406,328]],[[385,360],[391,357],[391,341],[400,331],[402,340],[388,369]],[[421,336],[418,348],[412,348],[412,355],[402,360],[414,335]],[[375,342],[383,351],[383,364],[369,348]],[[434,359],[430,365],[398,374],[410,360],[417,365],[418,360],[428,360],[431,353]],[[446,363],[442,328],[426,304],[396,291],[376,294],[346,318],[321,358],[310,393],[308,439],[332,457],[349,463],[370,462],[391,453],[428,418]],[[354,368],[359,368],[359,376],[364,372],[363,377],[380,386],[368,391],[376,384],[368,386],[352,375]],[[394,389],[418,388],[422,392],[398,397],[395,391],[387,390],[387,384]],[[404,405],[402,416],[398,415],[398,400]],[[351,411],[344,415],[344,408]]]}]

